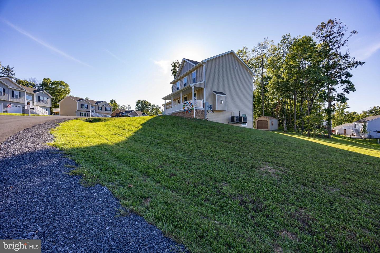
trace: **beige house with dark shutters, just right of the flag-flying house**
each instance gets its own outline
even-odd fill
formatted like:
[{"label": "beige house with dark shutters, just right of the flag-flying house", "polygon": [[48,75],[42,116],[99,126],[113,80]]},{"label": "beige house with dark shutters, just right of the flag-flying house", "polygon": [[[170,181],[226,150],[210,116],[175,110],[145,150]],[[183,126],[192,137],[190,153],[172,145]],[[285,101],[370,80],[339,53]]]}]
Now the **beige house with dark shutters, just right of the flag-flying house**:
[{"label": "beige house with dark shutters, just right of the flag-flying house", "polygon": [[101,117],[112,114],[112,106],[106,101],[66,96],[58,104],[61,116]]}]

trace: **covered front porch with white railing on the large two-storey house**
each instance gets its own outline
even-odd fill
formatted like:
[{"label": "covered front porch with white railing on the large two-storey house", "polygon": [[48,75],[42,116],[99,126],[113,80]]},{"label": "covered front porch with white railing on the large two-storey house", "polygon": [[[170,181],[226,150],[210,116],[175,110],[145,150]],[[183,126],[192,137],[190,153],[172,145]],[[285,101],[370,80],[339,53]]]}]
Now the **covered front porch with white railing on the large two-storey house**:
[{"label": "covered front porch with white railing on the large two-storey house", "polygon": [[204,99],[203,99],[204,86],[203,85],[204,84],[188,85],[187,87],[184,87],[178,91],[174,91],[168,96],[163,97],[165,101],[165,103],[163,104],[164,114],[184,116],[181,113],[183,112],[183,106],[185,102],[190,102],[194,105],[192,116],[194,118],[204,118]]}]

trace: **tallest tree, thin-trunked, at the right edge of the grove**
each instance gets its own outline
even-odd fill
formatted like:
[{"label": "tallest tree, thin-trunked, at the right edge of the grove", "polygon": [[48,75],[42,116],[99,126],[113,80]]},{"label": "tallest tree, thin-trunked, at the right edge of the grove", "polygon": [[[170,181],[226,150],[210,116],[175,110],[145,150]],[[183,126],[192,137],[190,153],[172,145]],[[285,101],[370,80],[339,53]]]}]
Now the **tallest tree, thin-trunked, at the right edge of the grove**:
[{"label": "tallest tree, thin-trunked, at the right edge of the grove", "polygon": [[[347,27],[339,19],[329,19],[322,22],[313,31],[313,36],[321,47],[322,73],[325,77],[325,94],[327,102],[328,135],[331,136],[331,119],[334,113],[334,102],[344,103],[348,99],[345,94],[355,91],[355,85],[351,82],[350,71],[364,64],[351,58],[347,50],[348,39],[358,32],[352,30],[348,35]],[[342,90],[342,92],[340,92]]]}]

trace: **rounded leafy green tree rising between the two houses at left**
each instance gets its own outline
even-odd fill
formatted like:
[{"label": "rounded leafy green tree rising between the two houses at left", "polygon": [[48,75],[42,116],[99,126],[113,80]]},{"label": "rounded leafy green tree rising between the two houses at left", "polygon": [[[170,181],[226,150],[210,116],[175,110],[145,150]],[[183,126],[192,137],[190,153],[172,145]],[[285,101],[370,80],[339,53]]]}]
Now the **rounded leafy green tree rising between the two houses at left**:
[{"label": "rounded leafy green tree rising between the two houses at left", "polygon": [[58,108],[58,102],[70,94],[70,86],[63,81],[52,81],[50,78],[44,78],[37,87],[38,90],[45,90],[52,96],[51,112],[53,108]]}]

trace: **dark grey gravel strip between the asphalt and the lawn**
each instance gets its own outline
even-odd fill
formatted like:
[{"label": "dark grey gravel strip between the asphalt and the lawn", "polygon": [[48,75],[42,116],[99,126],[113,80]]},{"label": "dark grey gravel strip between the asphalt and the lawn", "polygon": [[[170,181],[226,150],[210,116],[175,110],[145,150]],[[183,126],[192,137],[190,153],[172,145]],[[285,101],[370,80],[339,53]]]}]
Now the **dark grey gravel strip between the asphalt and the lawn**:
[{"label": "dark grey gravel strip between the asphalt and the lawn", "polygon": [[128,213],[101,185],[65,174],[76,165],[44,143],[57,119],[22,130],[0,146],[0,239],[41,239],[42,252],[177,252],[144,218]]}]

